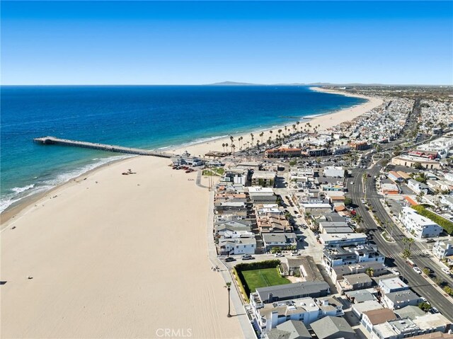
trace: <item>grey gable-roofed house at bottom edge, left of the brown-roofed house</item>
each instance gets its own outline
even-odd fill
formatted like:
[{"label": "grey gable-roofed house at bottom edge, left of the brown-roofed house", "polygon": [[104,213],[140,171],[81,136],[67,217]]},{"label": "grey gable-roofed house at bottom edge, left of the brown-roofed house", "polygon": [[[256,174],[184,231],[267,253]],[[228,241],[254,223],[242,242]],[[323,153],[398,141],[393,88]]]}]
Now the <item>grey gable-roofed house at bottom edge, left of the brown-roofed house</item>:
[{"label": "grey gable-roofed house at bottom edge, left of the brown-roofed house", "polygon": [[336,316],[326,316],[311,323],[311,329],[319,339],[357,338],[348,321]]}]

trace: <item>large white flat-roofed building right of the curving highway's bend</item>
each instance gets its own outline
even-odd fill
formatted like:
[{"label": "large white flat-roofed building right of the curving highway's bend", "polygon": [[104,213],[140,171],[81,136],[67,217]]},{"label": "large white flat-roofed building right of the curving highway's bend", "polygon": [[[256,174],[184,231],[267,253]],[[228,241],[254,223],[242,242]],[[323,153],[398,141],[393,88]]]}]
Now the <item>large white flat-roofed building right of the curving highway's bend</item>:
[{"label": "large white flat-roofed building right of the curving highway's bend", "polygon": [[442,233],[442,227],[432,222],[432,220],[418,214],[411,207],[403,207],[399,214],[399,219],[403,226],[418,239],[439,236]]}]

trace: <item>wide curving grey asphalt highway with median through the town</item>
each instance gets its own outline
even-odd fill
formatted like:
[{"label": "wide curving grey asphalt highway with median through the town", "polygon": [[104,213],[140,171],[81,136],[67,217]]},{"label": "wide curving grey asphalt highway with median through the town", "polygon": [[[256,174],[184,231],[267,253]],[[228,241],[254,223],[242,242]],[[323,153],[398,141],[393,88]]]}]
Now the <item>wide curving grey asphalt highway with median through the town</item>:
[{"label": "wide curving grey asphalt highway with median through the town", "polygon": [[[357,168],[352,170],[352,178],[348,179],[347,188],[349,196],[352,198],[352,202],[357,205],[356,211],[363,219],[362,225],[369,229],[369,234],[372,236],[372,241],[379,246],[379,251],[386,256],[386,262],[393,262],[394,265],[398,267],[398,270],[401,272],[401,275],[404,275],[404,278],[407,279],[408,285],[421,297],[425,297],[430,301],[432,306],[435,306],[439,311],[447,317],[450,321],[453,321],[453,304],[450,301],[451,297],[448,297],[446,294],[438,291],[434,286],[430,285],[428,280],[422,275],[416,273],[406,262],[401,258],[401,253],[404,249],[403,239],[406,236],[403,232],[394,225],[394,243],[388,243],[384,241],[381,236],[381,232],[377,229],[377,224],[374,222],[374,219],[371,217],[365,205],[362,204],[361,200],[365,198],[362,186],[362,176],[364,173],[369,173],[371,178],[367,178],[367,200],[371,203],[373,210],[376,212],[377,217],[382,220],[382,222],[391,222],[389,215],[387,214],[384,206],[382,206],[379,201],[379,195],[375,188],[374,176],[379,176],[379,171],[382,168],[382,164],[379,161],[377,164],[371,168],[361,169]],[[351,182],[354,182],[352,185]],[[418,244],[415,242],[412,246],[412,252],[418,252]],[[420,256],[413,256],[411,260],[418,265],[420,268],[429,266],[432,270],[435,270],[435,274],[438,277],[442,277],[442,280],[448,281],[451,283],[451,278],[447,277],[429,258],[423,258]]]}]

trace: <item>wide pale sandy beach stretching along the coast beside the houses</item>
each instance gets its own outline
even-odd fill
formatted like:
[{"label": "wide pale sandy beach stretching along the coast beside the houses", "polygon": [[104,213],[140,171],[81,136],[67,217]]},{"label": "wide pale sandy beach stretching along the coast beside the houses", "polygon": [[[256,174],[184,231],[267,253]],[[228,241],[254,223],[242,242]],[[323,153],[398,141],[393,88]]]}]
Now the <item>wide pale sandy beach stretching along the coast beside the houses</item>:
[{"label": "wide pale sandy beach stretching along the coast beside the houses", "polygon": [[[327,130],[382,103],[368,99],[310,123]],[[226,142],[183,150],[202,155]],[[169,163],[144,156],[110,163],[4,224],[1,338],[164,338],[165,329],[243,338],[237,318],[226,317],[224,280],[208,258],[209,191],[188,180],[196,173]],[[128,168],[136,174],[122,176]]]}]

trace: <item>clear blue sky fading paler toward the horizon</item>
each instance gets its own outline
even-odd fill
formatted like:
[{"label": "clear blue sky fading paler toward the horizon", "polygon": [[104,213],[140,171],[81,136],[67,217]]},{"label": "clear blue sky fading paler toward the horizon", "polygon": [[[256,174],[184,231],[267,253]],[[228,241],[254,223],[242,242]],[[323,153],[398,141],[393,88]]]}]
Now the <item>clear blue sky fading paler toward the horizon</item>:
[{"label": "clear blue sky fading paler toward the horizon", "polygon": [[453,84],[452,1],[1,1],[2,84]]}]

